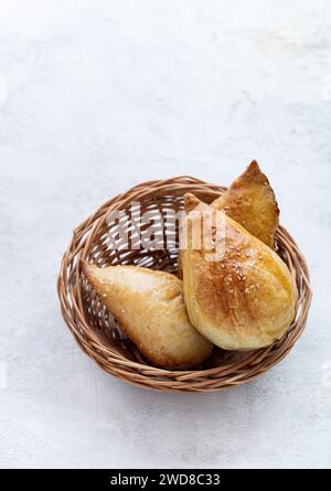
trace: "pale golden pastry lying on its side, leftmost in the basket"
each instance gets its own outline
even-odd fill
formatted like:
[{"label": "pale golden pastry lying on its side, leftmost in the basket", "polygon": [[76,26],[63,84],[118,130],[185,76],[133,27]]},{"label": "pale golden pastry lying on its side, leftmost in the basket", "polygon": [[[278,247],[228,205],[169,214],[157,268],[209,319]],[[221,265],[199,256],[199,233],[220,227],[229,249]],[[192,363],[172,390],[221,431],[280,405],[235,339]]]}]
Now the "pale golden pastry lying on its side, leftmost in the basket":
[{"label": "pale golden pastry lying on its side, leftmost in the basket", "polygon": [[182,281],[175,276],[138,266],[98,268],[86,263],[83,271],[102,302],[154,365],[186,369],[211,354],[212,343],[189,321]]}]

